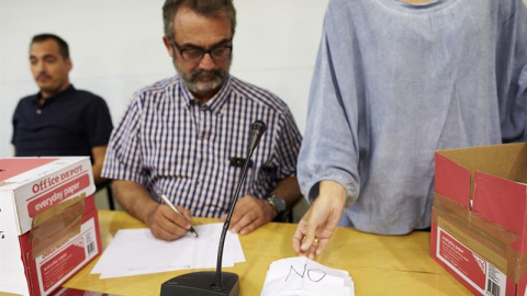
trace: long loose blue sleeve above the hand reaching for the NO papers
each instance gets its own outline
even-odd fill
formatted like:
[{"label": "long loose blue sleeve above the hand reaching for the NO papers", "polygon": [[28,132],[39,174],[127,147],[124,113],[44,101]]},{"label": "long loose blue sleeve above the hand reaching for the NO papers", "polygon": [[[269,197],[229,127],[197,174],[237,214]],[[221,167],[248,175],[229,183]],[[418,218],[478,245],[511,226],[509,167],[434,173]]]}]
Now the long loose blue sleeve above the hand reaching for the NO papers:
[{"label": "long loose blue sleeve above the hand reaching for the NO papers", "polygon": [[[340,1],[343,5],[344,1]],[[359,193],[360,81],[358,53],[346,9],[330,1],[310,90],[307,123],[299,156],[302,194],[313,202],[321,181],[341,184],[350,206]],[[363,104],[362,104],[363,105]]]}]

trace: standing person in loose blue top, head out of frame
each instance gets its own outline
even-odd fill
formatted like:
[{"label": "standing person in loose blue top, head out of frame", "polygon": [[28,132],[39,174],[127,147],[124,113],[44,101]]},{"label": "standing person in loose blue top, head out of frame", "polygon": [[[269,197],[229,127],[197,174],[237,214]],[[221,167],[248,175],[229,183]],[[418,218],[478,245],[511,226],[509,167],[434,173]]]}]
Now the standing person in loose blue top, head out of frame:
[{"label": "standing person in loose blue top, head out of frame", "polygon": [[307,117],[296,252],[428,228],[435,150],[527,138],[525,4],[330,0]]}]

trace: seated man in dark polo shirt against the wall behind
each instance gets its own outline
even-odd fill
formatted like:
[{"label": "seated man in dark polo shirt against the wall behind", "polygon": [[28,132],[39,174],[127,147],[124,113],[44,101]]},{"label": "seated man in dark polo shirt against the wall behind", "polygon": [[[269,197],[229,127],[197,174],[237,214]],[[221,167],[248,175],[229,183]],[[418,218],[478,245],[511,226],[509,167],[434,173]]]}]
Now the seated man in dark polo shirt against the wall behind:
[{"label": "seated man in dark polo shirt against the wall behind", "polygon": [[90,156],[96,184],[112,133],[103,99],[69,83],[68,44],[53,34],[33,37],[31,71],[40,92],[20,100],[13,115],[15,156]]}]

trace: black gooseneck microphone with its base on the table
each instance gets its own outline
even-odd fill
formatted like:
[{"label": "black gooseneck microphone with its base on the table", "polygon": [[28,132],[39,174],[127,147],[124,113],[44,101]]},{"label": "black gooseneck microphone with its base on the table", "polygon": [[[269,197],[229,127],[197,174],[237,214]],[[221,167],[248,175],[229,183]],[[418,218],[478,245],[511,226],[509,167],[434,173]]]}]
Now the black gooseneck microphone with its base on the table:
[{"label": "black gooseneck microphone with its base on the table", "polygon": [[160,296],[238,296],[239,295],[239,277],[232,272],[222,272],[223,247],[225,244],[225,236],[227,235],[228,226],[231,225],[231,217],[233,216],[234,207],[238,201],[242,184],[245,181],[248,164],[253,152],[260,143],[261,136],[267,129],[267,125],[262,121],[255,121],[250,125],[249,148],[247,151],[246,161],[242,170],[242,178],[239,178],[234,198],[231,202],[227,218],[223,224],[222,236],[220,237],[220,244],[217,250],[217,264],[215,272],[193,272],[182,274],[168,280],[161,285]]}]

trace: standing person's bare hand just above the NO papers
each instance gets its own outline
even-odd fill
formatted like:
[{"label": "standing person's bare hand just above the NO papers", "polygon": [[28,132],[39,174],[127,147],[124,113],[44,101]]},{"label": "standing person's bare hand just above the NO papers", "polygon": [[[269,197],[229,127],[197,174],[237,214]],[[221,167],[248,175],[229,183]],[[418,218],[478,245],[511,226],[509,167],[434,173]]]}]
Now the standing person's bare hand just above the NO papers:
[{"label": "standing person's bare hand just above the NO papers", "polygon": [[293,235],[293,249],[312,260],[326,249],[344,210],[346,191],[332,181],[321,182],[321,194],[302,217]]}]

